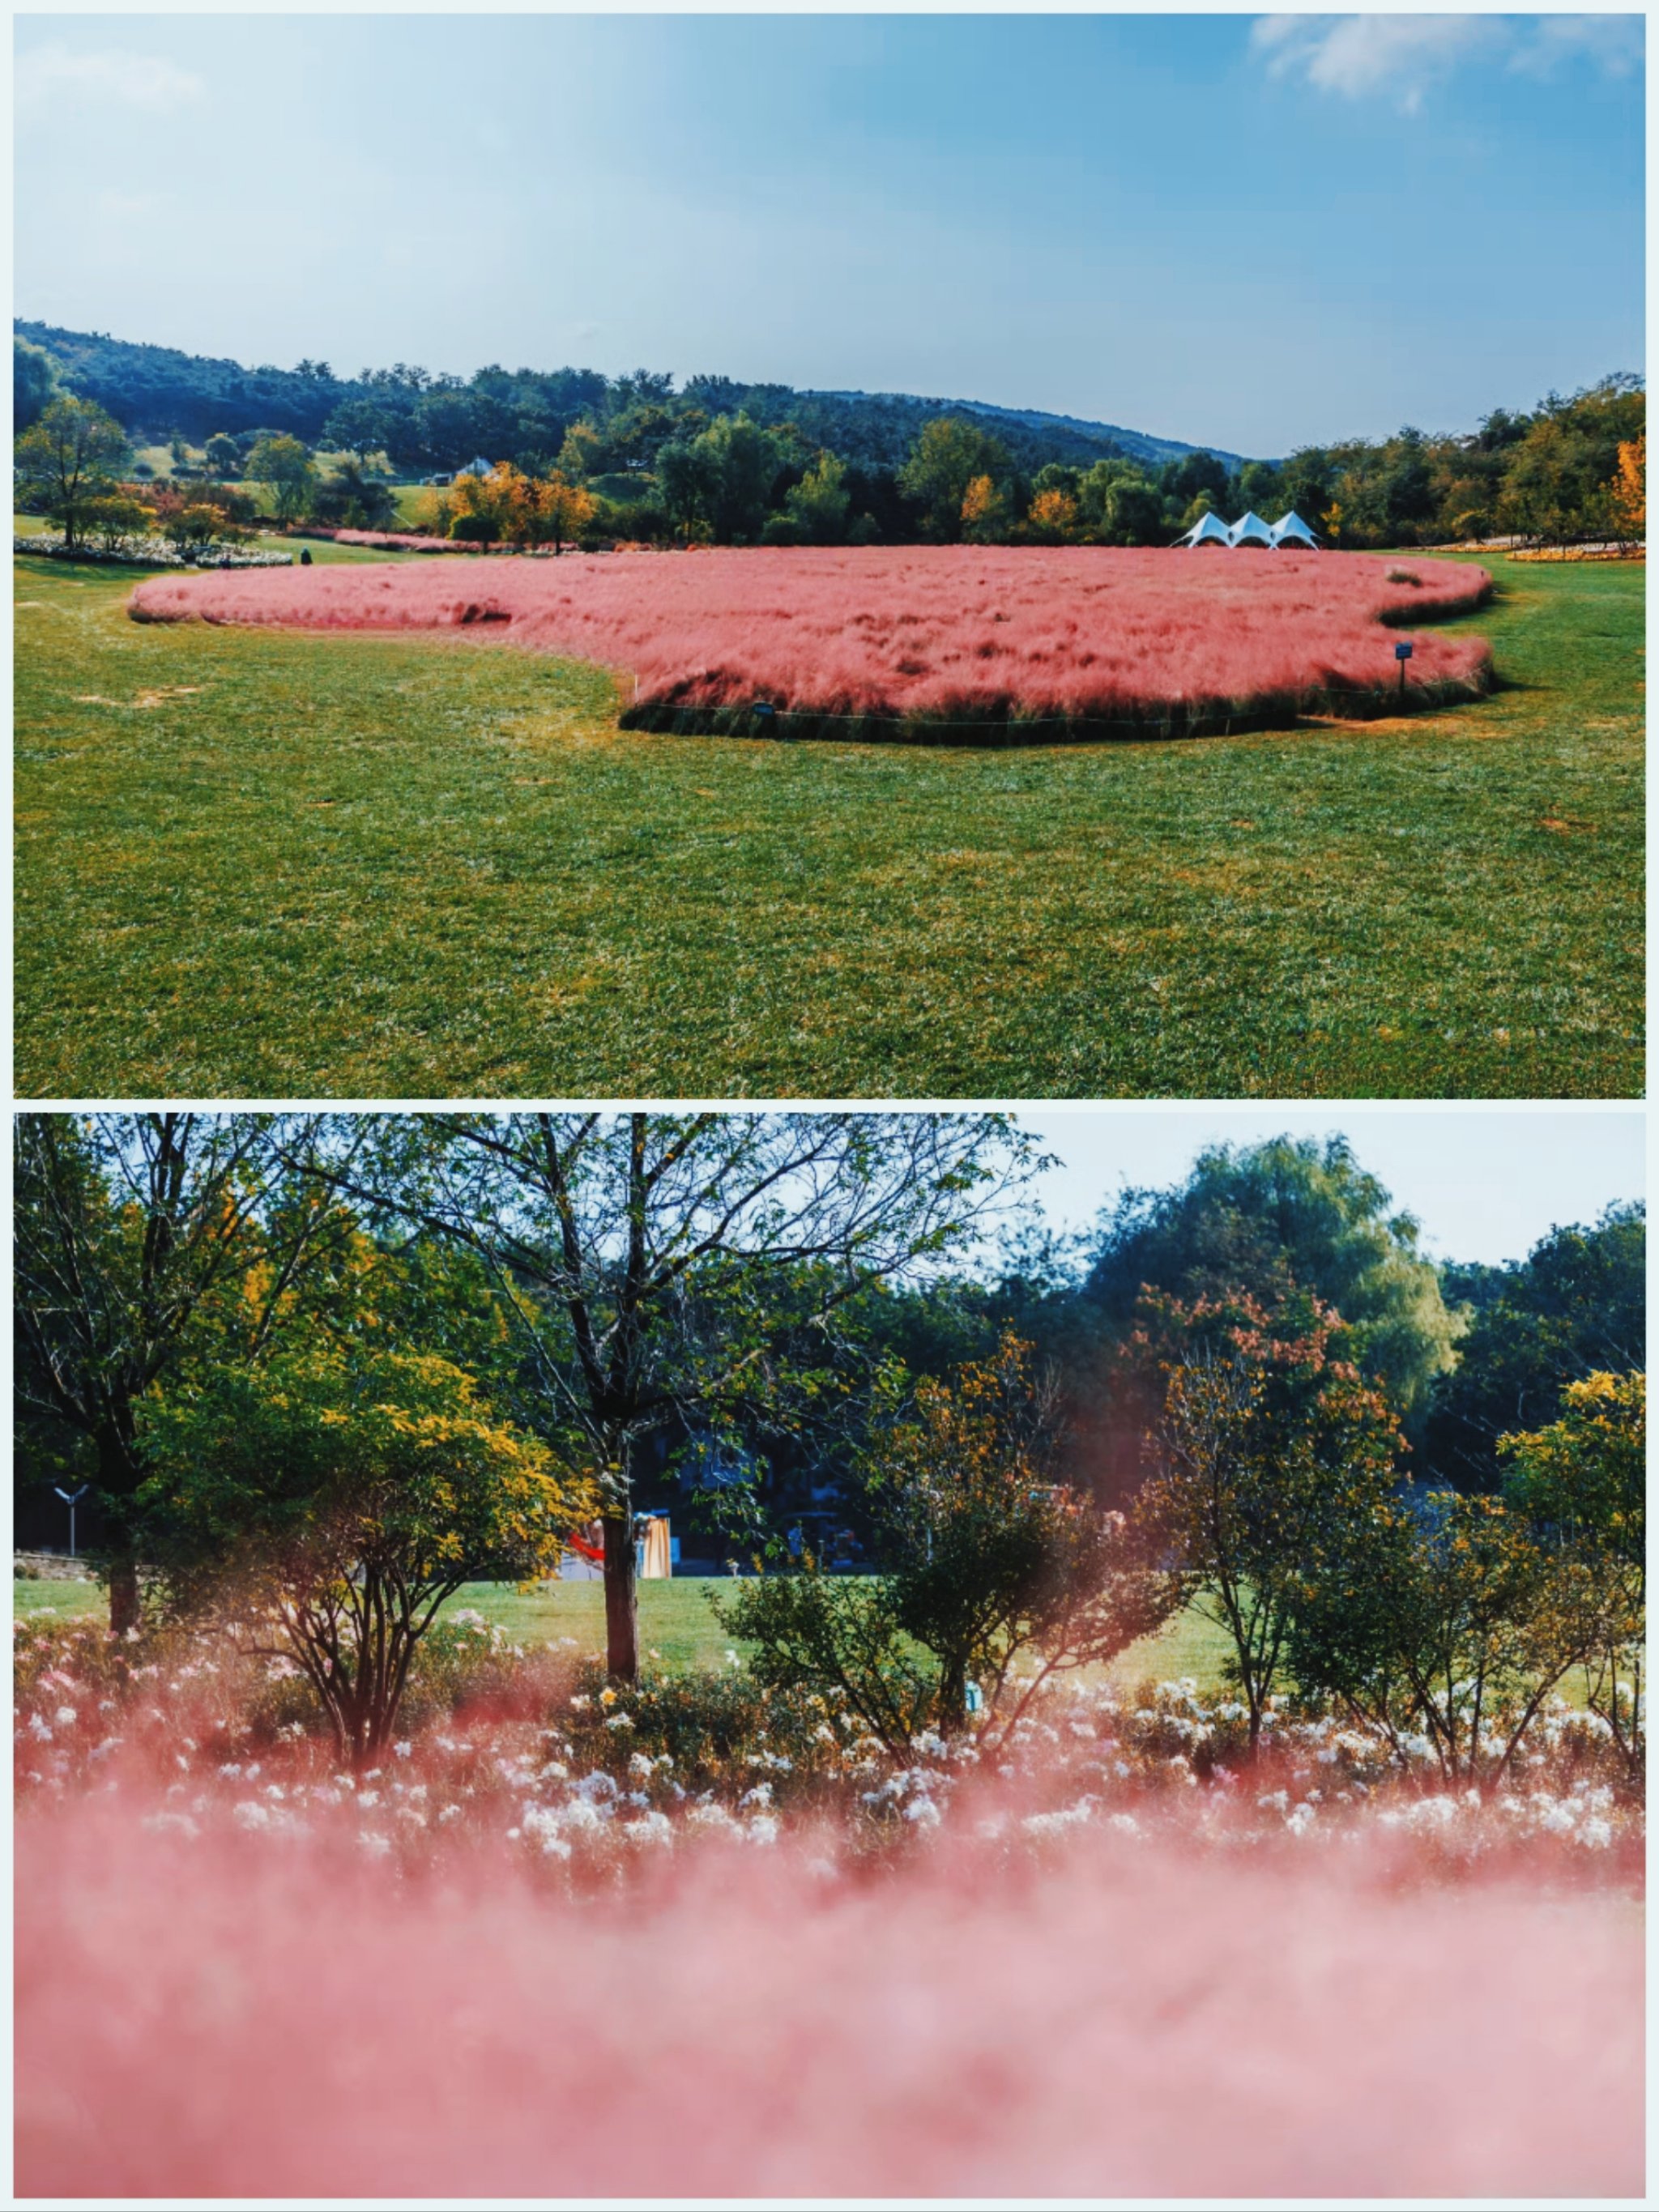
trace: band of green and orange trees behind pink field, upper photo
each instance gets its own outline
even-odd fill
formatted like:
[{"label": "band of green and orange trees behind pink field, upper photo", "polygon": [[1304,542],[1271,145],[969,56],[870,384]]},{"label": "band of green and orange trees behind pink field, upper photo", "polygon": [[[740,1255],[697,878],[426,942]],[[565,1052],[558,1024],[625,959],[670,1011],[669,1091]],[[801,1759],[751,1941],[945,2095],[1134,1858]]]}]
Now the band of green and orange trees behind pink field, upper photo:
[{"label": "band of green and orange trees behind pink field, upper photo", "polygon": [[[62,394],[49,354],[22,338],[13,352],[27,427]],[[1148,451],[1130,434],[1126,445],[964,407],[717,376],[675,389],[644,369],[611,380],[480,369],[462,385],[398,365],[347,389],[327,363],[305,369],[305,389],[345,394],[310,436],[219,427],[206,445],[217,480],[270,482],[285,520],[385,526],[392,502],[378,469],[456,471],[487,456],[518,478],[557,480],[566,500],[586,495],[573,535],[611,540],[1168,544],[1206,507],[1230,518],[1294,507],[1338,546],[1646,531],[1646,396],[1635,376],[1551,394],[1531,411],[1493,409],[1471,434],[1407,427],[1239,462]],[[327,473],[319,451],[336,456]]]}]

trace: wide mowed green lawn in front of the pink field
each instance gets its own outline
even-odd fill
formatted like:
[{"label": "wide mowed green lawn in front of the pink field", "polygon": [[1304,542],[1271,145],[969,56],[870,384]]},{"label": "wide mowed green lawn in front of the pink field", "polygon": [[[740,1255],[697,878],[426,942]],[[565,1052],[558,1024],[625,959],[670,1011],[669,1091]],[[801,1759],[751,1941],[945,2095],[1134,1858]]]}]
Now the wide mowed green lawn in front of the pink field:
[{"label": "wide mowed green lawn in front of the pink field", "polygon": [[1646,571],[1489,560],[1478,706],[900,750],[20,557],[18,1088],[1639,1095]]}]

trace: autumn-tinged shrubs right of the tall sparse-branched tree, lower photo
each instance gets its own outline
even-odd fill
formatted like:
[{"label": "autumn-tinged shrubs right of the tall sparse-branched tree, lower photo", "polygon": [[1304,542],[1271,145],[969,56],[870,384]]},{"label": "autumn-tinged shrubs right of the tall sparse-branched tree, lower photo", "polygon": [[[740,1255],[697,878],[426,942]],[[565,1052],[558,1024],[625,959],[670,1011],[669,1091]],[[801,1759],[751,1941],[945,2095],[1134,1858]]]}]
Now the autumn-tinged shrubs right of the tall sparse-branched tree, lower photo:
[{"label": "autumn-tinged shrubs right of the tall sparse-branched tree, lower photo", "polygon": [[774,1544],[726,1606],[763,1679],[834,1690],[900,1759],[980,1705],[998,1747],[1055,1672],[1190,1606],[1225,1637],[1250,1756],[1294,1683],[1444,1781],[1502,1783],[1582,1668],[1637,1778],[1646,1378],[1568,1385],[1555,1422],[1502,1440],[1502,1495],[1405,1491],[1396,1416],[1334,1356],[1338,1316],[1294,1294],[1219,1318],[1181,1316],[1128,1513],[1057,1480],[1057,1405],[1018,1338],[925,1383],[865,1462],[883,1571],[779,1571]]}]

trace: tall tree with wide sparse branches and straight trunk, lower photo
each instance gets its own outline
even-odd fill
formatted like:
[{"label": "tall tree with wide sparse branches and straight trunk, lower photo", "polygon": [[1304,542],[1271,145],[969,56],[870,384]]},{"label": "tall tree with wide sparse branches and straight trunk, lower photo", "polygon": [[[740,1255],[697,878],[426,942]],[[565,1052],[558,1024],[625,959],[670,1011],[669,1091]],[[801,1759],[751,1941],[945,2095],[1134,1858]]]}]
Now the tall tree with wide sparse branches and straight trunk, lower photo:
[{"label": "tall tree with wide sparse branches and straight trunk, lower photo", "polygon": [[[347,1152],[363,1124],[347,1124]],[[661,1429],[827,1387],[832,1329],[872,1283],[973,1234],[1026,1168],[1000,1115],[380,1119],[338,1188],[473,1250],[511,1316],[540,1429],[604,1522],[606,1652],[637,1674],[635,1469]]]}]

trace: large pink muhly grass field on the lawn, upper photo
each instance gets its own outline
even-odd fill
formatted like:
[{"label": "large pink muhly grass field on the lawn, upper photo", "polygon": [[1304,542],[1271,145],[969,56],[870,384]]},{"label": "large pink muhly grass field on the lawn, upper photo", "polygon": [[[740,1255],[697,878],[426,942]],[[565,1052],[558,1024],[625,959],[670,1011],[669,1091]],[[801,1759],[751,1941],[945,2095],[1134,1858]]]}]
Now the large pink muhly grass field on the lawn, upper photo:
[{"label": "large pink muhly grass field on the lawn, upper photo", "polygon": [[1491,684],[1486,641],[1411,624],[1469,613],[1489,591],[1484,568],[1365,553],[865,546],[153,577],[131,613],[484,626],[615,668],[633,681],[630,728],[748,732],[770,701],[787,734],[1104,737],[1394,712],[1402,630],[1409,706],[1475,697]]}]

